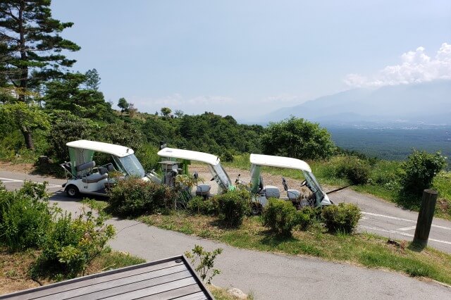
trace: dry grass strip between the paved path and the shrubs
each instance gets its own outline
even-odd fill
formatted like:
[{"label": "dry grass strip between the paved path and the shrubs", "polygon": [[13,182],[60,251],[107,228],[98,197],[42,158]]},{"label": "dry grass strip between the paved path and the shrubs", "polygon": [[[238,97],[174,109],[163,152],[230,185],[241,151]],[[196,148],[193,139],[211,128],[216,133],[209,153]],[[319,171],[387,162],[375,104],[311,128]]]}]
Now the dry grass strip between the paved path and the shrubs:
[{"label": "dry grass strip between the paved path and the shrubs", "polygon": [[387,244],[387,238],[369,233],[330,235],[316,225],[307,231],[295,231],[292,237],[280,237],[263,227],[259,217],[245,218],[240,228],[228,230],[213,217],[190,215],[184,211],[171,215],[147,215],[139,220],[178,232],[184,232],[190,224],[190,234],[237,248],[346,261],[451,284],[451,255],[431,248],[417,252],[409,249],[407,242]]}]

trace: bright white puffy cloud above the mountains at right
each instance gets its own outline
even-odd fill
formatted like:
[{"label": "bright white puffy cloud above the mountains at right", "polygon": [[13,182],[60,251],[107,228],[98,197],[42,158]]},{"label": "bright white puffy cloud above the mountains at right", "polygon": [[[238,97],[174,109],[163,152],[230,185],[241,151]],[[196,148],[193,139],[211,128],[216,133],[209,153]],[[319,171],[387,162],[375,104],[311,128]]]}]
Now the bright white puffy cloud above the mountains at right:
[{"label": "bright white puffy cloud above the mountains at right", "polygon": [[350,87],[381,87],[440,79],[451,80],[451,44],[443,43],[434,58],[420,46],[402,54],[399,65],[388,65],[372,76],[348,74],[345,83]]}]

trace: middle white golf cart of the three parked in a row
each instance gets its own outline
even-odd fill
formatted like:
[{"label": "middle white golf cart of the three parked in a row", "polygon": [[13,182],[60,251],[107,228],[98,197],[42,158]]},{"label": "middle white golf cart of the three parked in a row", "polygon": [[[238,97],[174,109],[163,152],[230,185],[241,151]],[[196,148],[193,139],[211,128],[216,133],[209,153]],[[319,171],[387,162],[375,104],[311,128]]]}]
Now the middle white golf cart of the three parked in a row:
[{"label": "middle white golf cart of the three parked in a row", "polygon": [[[161,161],[163,169],[163,178],[161,182],[166,185],[174,186],[175,178],[179,175],[188,175],[187,165],[190,165],[191,161],[199,161],[201,163],[206,163],[213,176],[210,181],[215,181],[218,184],[218,194],[224,190],[230,189],[232,187],[232,182],[230,177],[228,177],[226,170],[223,169],[218,156],[213,154],[206,154],[204,152],[174,149],[174,148],[163,148],[158,152],[166,161]],[[179,161],[176,161],[179,160]],[[181,161],[180,161],[181,160]],[[184,168],[179,168],[182,165]],[[197,173],[194,173],[194,179],[198,179]],[[204,196],[208,198],[210,196],[211,186],[202,184],[196,184],[196,196]]]}]

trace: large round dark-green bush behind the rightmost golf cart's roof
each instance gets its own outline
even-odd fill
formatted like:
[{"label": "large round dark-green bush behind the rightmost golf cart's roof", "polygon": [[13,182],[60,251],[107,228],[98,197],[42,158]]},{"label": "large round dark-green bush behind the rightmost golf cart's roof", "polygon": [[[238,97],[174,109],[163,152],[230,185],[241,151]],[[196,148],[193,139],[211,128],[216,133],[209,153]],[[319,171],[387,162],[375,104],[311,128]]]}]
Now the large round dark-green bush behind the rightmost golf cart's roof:
[{"label": "large round dark-green bush behind the rightmost golf cart's roof", "polygon": [[261,141],[264,154],[304,160],[328,158],[335,151],[330,133],[325,128],[295,117],[270,123]]}]

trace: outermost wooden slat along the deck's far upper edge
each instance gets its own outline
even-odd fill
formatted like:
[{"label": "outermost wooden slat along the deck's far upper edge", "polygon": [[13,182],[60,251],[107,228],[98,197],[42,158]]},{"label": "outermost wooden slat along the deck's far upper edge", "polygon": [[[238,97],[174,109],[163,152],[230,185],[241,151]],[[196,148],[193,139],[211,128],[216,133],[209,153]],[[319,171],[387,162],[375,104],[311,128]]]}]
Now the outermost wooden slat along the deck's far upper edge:
[{"label": "outermost wooden slat along the deck's far upper edge", "polygon": [[[108,272],[108,273],[99,273],[99,274],[89,275],[85,279],[78,278],[78,280],[73,281],[73,282],[67,282],[66,284],[65,284],[65,282],[58,282],[58,284],[56,286],[49,285],[49,286],[44,286],[42,288],[37,288],[36,291],[30,291],[30,293],[27,293],[25,297],[22,296],[23,294],[25,295],[25,293],[20,293],[17,296],[11,296],[11,297],[8,297],[7,299],[35,299],[35,298],[38,298],[41,296],[47,296],[50,294],[67,291],[69,289],[77,289],[79,287],[87,287],[89,285],[95,285],[95,284],[101,283],[101,282],[116,280],[116,279],[122,278],[122,277],[128,277],[128,276],[132,276],[132,275],[152,272],[154,270],[161,270],[163,268],[170,268],[175,265],[185,265],[185,264],[183,263],[183,261],[180,263],[175,263],[175,258],[174,258],[171,261],[166,261],[166,262],[158,263],[158,264],[152,264],[152,265],[144,266],[141,268],[139,268],[139,267],[133,268],[132,270],[125,270],[123,272],[111,272],[111,273]],[[113,270],[113,271],[117,271],[117,270]],[[4,296],[4,298],[2,296],[0,296],[0,299],[6,299],[6,296]]]}]

